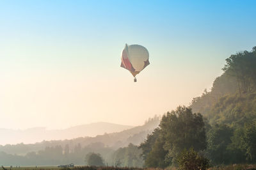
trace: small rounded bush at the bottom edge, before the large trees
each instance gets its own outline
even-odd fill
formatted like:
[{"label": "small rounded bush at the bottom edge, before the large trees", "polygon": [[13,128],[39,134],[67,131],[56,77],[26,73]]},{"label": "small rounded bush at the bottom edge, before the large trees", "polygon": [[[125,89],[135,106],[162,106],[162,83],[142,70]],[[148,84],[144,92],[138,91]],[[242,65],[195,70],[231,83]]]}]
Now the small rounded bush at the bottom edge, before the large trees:
[{"label": "small rounded bush at the bottom edge, before the large trees", "polygon": [[210,167],[209,160],[202,155],[199,155],[193,148],[184,149],[177,158],[179,169],[184,170],[199,170],[208,169]]}]

